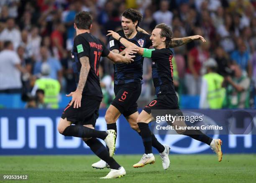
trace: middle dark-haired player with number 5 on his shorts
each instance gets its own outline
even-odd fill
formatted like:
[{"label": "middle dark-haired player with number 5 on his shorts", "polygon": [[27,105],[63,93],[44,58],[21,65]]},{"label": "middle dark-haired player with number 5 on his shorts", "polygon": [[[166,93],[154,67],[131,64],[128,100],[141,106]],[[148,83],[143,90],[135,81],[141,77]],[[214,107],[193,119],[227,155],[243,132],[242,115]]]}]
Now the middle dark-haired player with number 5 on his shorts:
[{"label": "middle dark-haired player with number 5 on his shorts", "polygon": [[[142,20],[141,13],[136,9],[127,9],[122,15],[122,28],[117,33],[120,38],[125,38],[134,43],[140,48],[149,48],[152,46],[150,35],[146,31],[138,27]],[[140,30],[140,31],[138,31]],[[175,38],[172,40],[171,47],[181,46],[188,43],[190,39]],[[125,54],[127,48],[120,43],[119,40],[110,37],[110,50],[114,53]],[[143,57],[136,54],[134,62],[129,65],[114,64],[114,92],[115,99],[108,108],[105,114],[108,130],[115,130],[117,132],[116,121],[121,114],[129,122],[131,128],[136,130],[141,135],[140,129],[137,125],[138,110],[137,100],[141,94],[142,74],[143,74]],[[155,147],[161,156],[163,168],[166,170],[169,167],[169,146],[162,145],[155,137],[151,135],[152,146]],[[100,160],[92,164],[94,168],[105,168],[108,164]]]}]

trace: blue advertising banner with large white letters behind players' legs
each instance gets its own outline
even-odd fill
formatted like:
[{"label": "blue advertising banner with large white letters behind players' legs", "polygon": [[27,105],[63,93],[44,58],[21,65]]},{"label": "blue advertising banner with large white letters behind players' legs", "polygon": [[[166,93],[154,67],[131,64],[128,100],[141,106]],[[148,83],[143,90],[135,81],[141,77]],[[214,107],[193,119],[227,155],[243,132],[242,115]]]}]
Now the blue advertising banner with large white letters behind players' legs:
[{"label": "blue advertising banner with large white letters behind players' legs", "polygon": [[[62,110],[1,109],[0,155],[54,155],[92,154],[77,137],[64,137],[57,131]],[[106,130],[104,115],[100,110],[96,129]],[[255,124],[256,119],[254,119]],[[117,122],[116,154],[143,154],[143,143],[121,116]],[[213,153],[202,142],[184,135],[156,135],[159,142],[171,147],[172,153]],[[223,141],[223,153],[256,153],[256,135],[211,135]],[[157,153],[154,150],[154,153]]]}]

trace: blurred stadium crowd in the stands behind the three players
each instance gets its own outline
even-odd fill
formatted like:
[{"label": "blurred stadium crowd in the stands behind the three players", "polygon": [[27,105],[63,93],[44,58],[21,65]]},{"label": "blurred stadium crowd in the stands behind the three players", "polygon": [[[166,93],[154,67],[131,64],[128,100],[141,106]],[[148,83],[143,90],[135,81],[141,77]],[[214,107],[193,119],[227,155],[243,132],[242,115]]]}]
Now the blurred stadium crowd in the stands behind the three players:
[{"label": "blurred stadium crowd in the stands behind the three players", "polygon": [[[175,38],[198,34],[207,40],[173,49],[174,85],[179,94],[200,95],[204,63],[210,58],[225,80],[228,102],[223,107],[252,107],[255,0],[1,0],[0,93],[21,93],[27,107],[45,107],[33,97],[44,94],[35,91],[38,79],[59,81],[62,93],[74,91],[71,51],[75,14],[89,11],[94,20],[91,33],[108,45],[107,30],[121,29],[120,18],[126,8],[140,10],[143,20],[139,26],[148,33],[156,24],[166,23]],[[99,72],[104,95],[101,107],[108,107],[114,95],[113,64],[102,58]],[[143,73],[140,99],[148,100],[155,94],[150,59],[144,59]]]}]

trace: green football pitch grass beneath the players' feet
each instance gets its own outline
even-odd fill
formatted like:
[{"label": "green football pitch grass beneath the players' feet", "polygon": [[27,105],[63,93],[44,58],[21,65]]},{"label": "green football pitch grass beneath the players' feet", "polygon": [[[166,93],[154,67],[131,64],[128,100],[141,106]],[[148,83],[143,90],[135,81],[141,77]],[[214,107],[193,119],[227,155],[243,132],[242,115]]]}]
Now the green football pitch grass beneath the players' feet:
[{"label": "green football pitch grass beneath the players' feet", "polygon": [[0,156],[0,175],[28,175],[28,180],[22,182],[31,183],[256,183],[256,154],[224,154],[220,163],[213,154],[169,155],[171,164],[168,170],[162,168],[158,154],[155,154],[156,163],[143,168],[132,167],[141,155],[115,155],[114,158],[126,170],[122,178],[99,179],[110,169],[92,168],[91,164],[99,160],[95,155]]}]

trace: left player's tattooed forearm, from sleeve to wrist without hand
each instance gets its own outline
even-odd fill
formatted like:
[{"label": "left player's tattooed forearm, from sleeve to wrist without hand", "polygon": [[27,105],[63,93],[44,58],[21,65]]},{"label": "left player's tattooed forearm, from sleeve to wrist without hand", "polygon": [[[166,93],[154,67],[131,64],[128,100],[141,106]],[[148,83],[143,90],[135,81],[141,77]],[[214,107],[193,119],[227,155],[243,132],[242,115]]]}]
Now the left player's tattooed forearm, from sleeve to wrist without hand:
[{"label": "left player's tattooed forearm, from sleeve to wrist without hand", "polygon": [[79,60],[80,60],[80,63],[82,66],[81,66],[81,70],[80,70],[77,90],[82,93],[91,67],[90,67],[89,58],[87,56],[83,56]]}]

